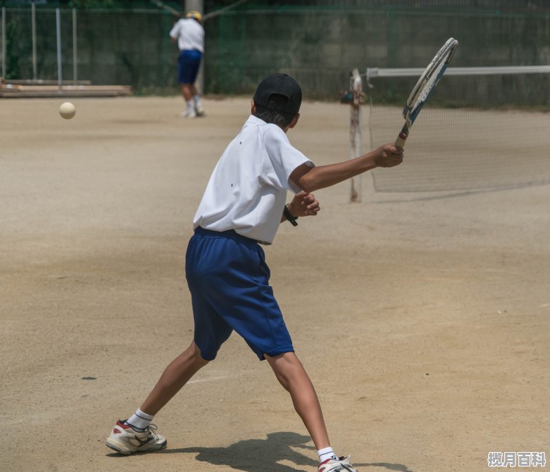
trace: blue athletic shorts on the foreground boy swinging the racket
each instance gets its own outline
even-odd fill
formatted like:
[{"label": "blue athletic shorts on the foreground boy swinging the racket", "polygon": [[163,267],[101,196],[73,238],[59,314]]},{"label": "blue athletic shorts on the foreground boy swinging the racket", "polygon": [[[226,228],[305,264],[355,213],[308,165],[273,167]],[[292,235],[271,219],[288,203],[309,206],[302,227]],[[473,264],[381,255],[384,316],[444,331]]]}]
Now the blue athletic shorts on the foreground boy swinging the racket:
[{"label": "blue athletic shorts on the foreground boy swinging the racket", "polygon": [[186,254],[186,278],[195,319],[195,343],[212,361],[235,330],[262,361],[294,352],[263,249],[233,230],[197,228]]}]

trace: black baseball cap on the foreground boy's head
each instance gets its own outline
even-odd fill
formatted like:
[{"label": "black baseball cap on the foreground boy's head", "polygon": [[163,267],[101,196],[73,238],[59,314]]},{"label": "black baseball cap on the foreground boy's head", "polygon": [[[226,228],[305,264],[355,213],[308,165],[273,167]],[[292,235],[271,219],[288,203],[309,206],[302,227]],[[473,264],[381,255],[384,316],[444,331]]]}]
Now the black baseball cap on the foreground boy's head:
[{"label": "black baseball cap on the foreground boy's head", "polygon": [[[270,100],[272,95],[282,95],[288,100],[286,103],[278,103],[280,100],[277,102]],[[300,111],[302,104],[302,89],[291,76],[272,74],[259,83],[254,94],[254,103],[285,114],[295,115]]]}]

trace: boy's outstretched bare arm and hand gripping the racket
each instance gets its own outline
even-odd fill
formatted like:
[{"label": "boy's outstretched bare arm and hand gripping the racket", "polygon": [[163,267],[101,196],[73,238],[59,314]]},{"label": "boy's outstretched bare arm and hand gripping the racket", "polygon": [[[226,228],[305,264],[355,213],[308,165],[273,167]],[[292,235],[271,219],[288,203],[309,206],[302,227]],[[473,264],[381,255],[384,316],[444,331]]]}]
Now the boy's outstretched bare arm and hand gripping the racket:
[{"label": "boy's outstretched bare arm and hand gripping the racket", "polygon": [[403,149],[396,148],[393,144],[384,144],[370,153],[337,164],[318,167],[302,164],[290,174],[290,180],[309,193],[339,184],[375,167],[394,167],[401,162],[403,162]]}]

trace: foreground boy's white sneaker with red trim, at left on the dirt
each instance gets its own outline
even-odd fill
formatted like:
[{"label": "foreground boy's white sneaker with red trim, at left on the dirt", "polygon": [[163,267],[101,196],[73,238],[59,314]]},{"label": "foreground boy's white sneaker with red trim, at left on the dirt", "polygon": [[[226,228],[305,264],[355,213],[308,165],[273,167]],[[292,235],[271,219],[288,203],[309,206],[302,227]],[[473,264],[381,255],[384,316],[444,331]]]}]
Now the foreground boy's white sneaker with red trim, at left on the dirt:
[{"label": "foreground boy's white sneaker with red trim, at left on the dirt", "polygon": [[159,451],[166,447],[166,438],[155,433],[157,427],[149,425],[143,432],[138,433],[130,425],[124,425],[125,420],[118,420],[107,438],[105,445],[121,454],[134,452]]}]

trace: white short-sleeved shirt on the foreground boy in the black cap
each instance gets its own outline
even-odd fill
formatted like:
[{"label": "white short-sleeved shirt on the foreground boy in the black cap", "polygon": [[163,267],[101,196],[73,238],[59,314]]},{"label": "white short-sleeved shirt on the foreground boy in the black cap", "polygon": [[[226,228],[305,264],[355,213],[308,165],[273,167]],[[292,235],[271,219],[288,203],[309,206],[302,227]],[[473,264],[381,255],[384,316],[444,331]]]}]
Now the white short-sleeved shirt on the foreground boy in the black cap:
[{"label": "white short-sleeved shirt on the foreground boy in the black cap", "polygon": [[287,190],[300,189],[289,180],[306,163],[277,125],[250,116],[214,167],[193,228],[236,233],[272,244],[281,223]]}]

